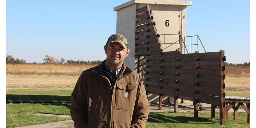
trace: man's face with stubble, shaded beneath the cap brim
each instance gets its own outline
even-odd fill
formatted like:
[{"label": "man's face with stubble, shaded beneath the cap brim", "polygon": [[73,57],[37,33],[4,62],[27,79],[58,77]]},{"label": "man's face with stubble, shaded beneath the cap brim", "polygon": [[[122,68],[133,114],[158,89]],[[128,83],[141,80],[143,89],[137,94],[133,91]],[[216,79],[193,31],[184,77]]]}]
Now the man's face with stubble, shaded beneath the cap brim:
[{"label": "man's face with stubble, shaded beneath the cap brim", "polygon": [[109,64],[118,65],[122,64],[124,58],[128,56],[130,49],[125,48],[118,42],[109,44],[107,47],[104,46],[105,53]]}]

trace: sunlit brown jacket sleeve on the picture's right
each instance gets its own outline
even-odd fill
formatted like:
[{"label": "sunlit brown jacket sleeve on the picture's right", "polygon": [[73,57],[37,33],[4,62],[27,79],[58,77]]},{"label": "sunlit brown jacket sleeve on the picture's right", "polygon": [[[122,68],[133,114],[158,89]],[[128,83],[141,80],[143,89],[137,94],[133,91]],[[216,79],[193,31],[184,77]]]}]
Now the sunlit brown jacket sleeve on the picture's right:
[{"label": "sunlit brown jacket sleeve on the picture's right", "polygon": [[142,82],[142,77],[139,79],[139,92],[136,97],[135,107],[133,111],[132,117],[132,128],[144,128],[146,126],[146,122],[148,120],[149,113],[149,102],[146,94],[145,87]]}]

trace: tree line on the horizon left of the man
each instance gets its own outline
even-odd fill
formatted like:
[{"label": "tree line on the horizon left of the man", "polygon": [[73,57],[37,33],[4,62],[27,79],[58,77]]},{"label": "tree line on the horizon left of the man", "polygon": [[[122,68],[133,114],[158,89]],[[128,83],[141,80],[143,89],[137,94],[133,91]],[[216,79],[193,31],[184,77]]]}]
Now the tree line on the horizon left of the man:
[{"label": "tree line on the horizon left of the man", "polygon": [[[45,55],[44,56],[44,62],[42,64],[81,64],[81,65],[86,65],[86,64],[100,64],[102,63],[102,60],[65,60],[64,58],[55,59],[54,57],[50,55]],[[12,55],[7,55],[6,56],[6,64],[28,64],[26,63],[26,60],[23,59],[14,59]],[[36,62],[33,62],[32,64],[37,64]]]}]

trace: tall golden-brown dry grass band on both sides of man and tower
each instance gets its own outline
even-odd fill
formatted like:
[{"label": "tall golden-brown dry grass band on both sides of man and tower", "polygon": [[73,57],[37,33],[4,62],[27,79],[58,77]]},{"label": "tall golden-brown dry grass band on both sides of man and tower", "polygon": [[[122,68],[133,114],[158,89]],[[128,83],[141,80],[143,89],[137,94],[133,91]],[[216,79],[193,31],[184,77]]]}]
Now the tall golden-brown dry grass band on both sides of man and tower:
[{"label": "tall golden-brown dry grass band on both sides of man and tower", "polygon": [[[6,74],[11,75],[80,75],[96,65],[68,64],[6,64]],[[230,77],[250,77],[250,67],[226,65],[225,74]]]}]

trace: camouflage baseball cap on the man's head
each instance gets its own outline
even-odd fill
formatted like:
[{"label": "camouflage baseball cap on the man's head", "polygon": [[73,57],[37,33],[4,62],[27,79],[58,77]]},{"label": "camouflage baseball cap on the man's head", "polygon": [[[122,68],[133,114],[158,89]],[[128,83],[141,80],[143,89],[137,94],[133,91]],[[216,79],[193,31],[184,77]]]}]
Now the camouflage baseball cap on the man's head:
[{"label": "camouflage baseball cap on the man's head", "polygon": [[124,37],[121,34],[113,34],[108,38],[108,41],[106,43],[106,45],[109,45],[113,42],[118,42],[120,43],[124,48],[128,47],[128,40],[126,37]]}]

